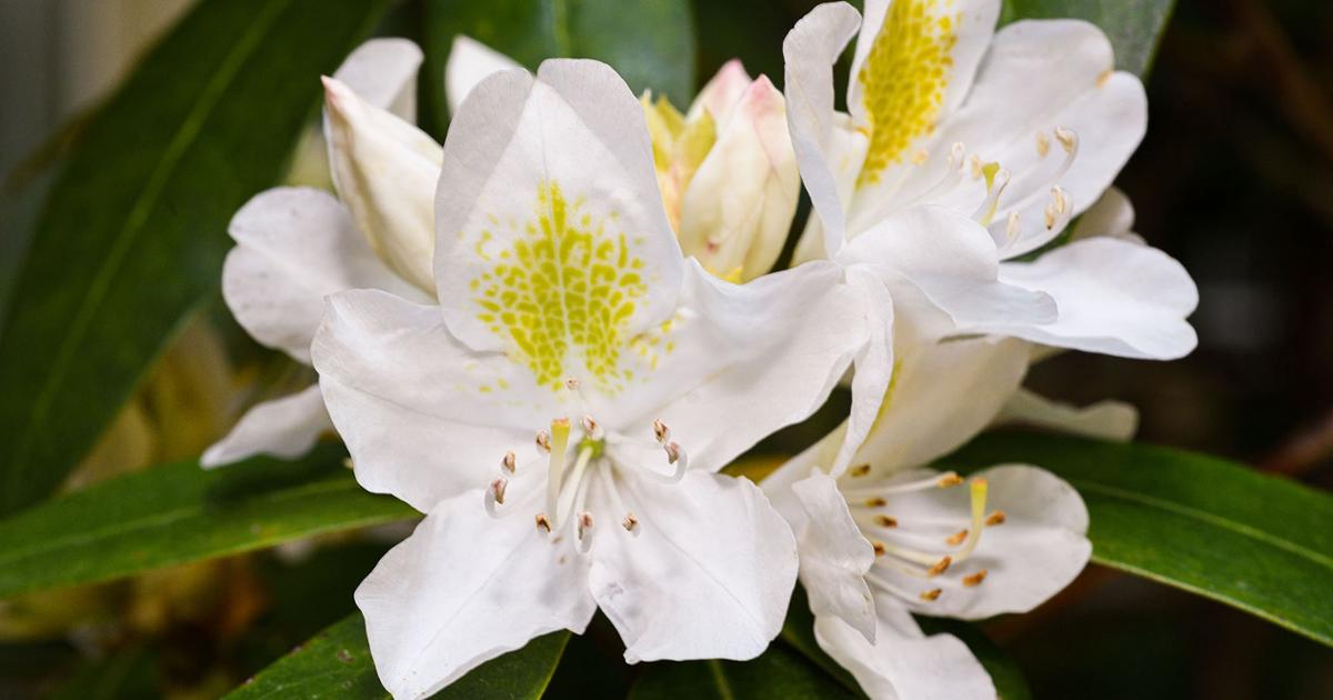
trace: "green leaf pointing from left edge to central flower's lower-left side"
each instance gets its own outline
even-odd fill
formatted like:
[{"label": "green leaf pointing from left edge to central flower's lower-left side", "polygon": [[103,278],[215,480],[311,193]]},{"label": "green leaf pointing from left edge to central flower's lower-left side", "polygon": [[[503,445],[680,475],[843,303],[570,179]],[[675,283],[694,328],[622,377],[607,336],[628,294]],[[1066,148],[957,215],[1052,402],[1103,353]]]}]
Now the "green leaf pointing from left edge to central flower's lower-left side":
[{"label": "green leaf pointing from left edge to central flower's lower-left side", "polygon": [[0,599],[272,547],[417,513],[368,493],[325,445],[305,460],[157,467],[0,521]]}]

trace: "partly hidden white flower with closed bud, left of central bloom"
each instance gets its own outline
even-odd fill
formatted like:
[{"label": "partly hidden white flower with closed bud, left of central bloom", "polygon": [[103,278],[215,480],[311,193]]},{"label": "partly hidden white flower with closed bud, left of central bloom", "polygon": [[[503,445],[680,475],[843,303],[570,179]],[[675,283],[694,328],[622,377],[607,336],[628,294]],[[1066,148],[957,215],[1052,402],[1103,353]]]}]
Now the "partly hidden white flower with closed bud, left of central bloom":
[{"label": "partly hidden white flower with closed bud, left of central bloom", "polygon": [[[433,291],[431,208],[440,147],[407,121],[416,111],[420,64],[421,51],[411,41],[376,39],[325,79],[328,157],[341,200],[319,189],[275,188],[232,217],[236,248],[223,268],[227,305],[255,340],[303,364],[311,361],[325,295],[369,287],[425,300]],[[295,457],[332,427],[311,384],[255,405],[201,463]]]}]

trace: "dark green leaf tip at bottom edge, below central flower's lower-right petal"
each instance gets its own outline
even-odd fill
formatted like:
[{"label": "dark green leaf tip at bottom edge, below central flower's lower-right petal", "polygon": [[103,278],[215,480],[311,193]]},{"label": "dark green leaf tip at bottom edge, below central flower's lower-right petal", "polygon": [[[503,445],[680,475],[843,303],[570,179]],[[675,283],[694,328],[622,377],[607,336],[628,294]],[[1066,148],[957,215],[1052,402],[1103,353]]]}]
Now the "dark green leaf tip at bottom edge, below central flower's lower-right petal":
[{"label": "dark green leaf tip at bottom edge, below central flower's lower-right petal", "polygon": [[631,700],[676,700],[738,697],[836,699],[857,697],[841,683],[820,671],[796,649],[770,644],[758,659],[749,661],[660,661],[648,664],[629,691]]}]

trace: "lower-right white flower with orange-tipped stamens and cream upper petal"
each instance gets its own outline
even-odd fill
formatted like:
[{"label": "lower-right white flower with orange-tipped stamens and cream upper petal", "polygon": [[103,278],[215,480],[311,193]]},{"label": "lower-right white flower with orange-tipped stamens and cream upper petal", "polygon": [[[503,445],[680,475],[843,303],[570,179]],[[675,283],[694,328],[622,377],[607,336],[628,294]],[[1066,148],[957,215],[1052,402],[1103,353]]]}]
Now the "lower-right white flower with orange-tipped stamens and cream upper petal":
[{"label": "lower-right white flower with orange-tipped stamens and cream upper petal", "polygon": [[925,468],[1014,396],[1028,349],[1013,339],[932,343],[897,319],[882,411],[840,476],[834,431],[764,481],[792,523],[816,639],[872,697],[994,697],[958,640],[925,637],[912,612],[984,619],[1025,612],[1090,553],[1088,513],[1060,479],[1000,465],[965,480]]}]

